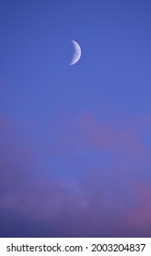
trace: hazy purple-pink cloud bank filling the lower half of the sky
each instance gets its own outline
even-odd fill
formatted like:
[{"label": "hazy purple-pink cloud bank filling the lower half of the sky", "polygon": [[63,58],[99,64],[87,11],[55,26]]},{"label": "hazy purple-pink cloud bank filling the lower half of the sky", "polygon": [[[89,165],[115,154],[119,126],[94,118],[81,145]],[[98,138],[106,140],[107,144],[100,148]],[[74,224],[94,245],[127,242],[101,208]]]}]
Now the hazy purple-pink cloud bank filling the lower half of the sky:
[{"label": "hazy purple-pink cloud bank filling the lower half of the sky", "polygon": [[126,119],[121,124],[109,117],[106,122],[89,112],[57,117],[47,126],[49,143],[37,136],[36,146],[33,127],[40,127],[32,126],[31,132],[27,125],[26,133],[22,125],[25,141],[20,141],[15,127],[21,124],[1,118],[1,213],[34,221],[25,229],[27,236],[42,223],[50,230],[40,229],[37,236],[150,236],[151,163],[136,133],[146,123]]}]

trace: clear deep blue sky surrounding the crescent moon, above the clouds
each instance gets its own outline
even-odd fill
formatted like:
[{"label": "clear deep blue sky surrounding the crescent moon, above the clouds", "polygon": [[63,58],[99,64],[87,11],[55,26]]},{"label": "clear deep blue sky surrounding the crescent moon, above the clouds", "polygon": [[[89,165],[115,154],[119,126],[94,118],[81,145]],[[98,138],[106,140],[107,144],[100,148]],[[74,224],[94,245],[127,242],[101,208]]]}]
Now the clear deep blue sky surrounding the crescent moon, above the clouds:
[{"label": "clear deep blue sky surrounding the crescent moon, above the clouds", "polygon": [[[150,1],[2,1],[0,68],[12,84],[11,108],[26,113],[35,103],[43,112],[45,101],[48,112],[97,111],[109,102],[149,113],[150,8]],[[71,38],[82,48],[74,67]]]}]

